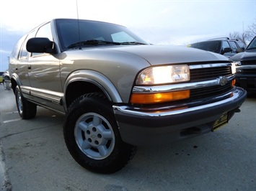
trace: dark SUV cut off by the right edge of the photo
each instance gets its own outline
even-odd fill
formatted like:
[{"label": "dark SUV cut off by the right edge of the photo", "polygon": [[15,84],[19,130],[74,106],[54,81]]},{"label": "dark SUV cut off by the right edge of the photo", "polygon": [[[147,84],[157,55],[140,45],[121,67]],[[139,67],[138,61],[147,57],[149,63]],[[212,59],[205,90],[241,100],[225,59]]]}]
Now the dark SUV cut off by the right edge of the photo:
[{"label": "dark SUV cut off by the right edge of the photo", "polygon": [[230,57],[236,63],[236,85],[250,93],[256,93],[256,37],[244,52]]}]

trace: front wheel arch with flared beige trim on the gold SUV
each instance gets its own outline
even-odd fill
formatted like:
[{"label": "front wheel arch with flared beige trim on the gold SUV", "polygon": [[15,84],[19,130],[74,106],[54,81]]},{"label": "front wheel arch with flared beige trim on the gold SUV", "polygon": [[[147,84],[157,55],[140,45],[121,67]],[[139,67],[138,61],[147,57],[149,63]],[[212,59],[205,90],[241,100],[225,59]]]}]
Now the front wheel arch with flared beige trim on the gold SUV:
[{"label": "front wheel arch with flared beige trim on the gold SUV", "polygon": [[113,103],[123,102],[115,85],[105,75],[92,70],[76,70],[71,73],[66,79],[63,92],[65,109],[79,96],[92,92],[104,93]]}]

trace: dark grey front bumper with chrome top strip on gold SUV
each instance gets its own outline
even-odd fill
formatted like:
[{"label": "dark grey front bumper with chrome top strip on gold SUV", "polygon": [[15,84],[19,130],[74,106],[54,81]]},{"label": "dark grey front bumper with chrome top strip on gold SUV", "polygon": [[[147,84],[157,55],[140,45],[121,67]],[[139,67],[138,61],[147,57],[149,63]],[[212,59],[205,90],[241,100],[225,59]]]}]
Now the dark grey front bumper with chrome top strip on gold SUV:
[{"label": "dark grey front bumper with chrome top strip on gold SUV", "polygon": [[230,119],[246,96],[244,89],[236,88],[224,100],[179,110],[140,111],[131,106],[113,106],[113,110],[123,141],[137,146],[154,146],[211,131],[223,113],[229,112]]}]

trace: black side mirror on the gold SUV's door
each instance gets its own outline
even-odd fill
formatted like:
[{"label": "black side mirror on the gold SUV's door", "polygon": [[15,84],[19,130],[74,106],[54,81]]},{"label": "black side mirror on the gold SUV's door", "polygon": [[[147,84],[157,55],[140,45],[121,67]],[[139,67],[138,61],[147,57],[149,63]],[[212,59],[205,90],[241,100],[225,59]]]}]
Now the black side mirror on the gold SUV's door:
[{"label": "black side mirror on the gold SUV's door", "polygon": [[48,38],[31,38],[26,45],[28,52],[55,53],[54,42]]}]

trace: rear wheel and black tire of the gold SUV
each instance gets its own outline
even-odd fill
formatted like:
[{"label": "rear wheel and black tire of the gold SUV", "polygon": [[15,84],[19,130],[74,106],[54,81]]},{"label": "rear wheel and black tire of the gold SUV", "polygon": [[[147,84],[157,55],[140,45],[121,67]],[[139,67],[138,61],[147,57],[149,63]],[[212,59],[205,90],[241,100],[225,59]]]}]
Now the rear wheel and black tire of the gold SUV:
[{"label": "rear wheel and black tire of the gold SUV", "polygon": [[19,116],[21,118],[30,119],[35,117],[37,113],[37,105],[35,105],[35,103],[31,103],[30,101],[27,101],[23,97],[18,85],[16,86],[16,89],[15,89],[15,99],[16,99]]}]

